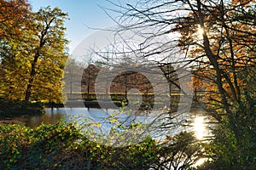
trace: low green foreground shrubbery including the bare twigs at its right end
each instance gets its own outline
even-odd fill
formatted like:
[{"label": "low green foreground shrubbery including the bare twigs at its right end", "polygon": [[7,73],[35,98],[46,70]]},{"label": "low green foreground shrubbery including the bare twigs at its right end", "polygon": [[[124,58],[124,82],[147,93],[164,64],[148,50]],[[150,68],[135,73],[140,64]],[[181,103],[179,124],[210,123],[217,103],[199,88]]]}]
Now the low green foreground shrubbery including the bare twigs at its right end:
[{"label": "low green foreground shrubbery including the bare twigs at its right end", "polygon": [[[0,132],[1,169],[158,169],[190,159],[199,150],[189,133],[163,144],[148,138],[115,148],[86,139],[73,124],[65,122],[33,129],[0,124]],[[175,159],[177,156],[183,159]],[[183,169],[189,169],[191,162]]]}]

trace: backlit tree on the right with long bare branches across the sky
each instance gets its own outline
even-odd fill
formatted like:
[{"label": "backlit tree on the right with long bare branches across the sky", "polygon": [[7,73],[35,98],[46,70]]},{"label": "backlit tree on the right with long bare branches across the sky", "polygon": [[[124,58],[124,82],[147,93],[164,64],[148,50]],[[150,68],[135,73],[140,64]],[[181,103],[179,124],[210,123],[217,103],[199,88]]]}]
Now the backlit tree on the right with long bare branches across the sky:
[{"label": "backlit tree on the right with long bare branches across the sky", "polygon": [[[122,16],[117,20],[123,30],[152,30],[151,34],[144,35],[147,37],[141,45],[144,48],[154,45],[147,43],[151,39],[177,35],[159,48],[148,50],[144,56],[165,54],[174,47],[183,50],[183,62],[189,63],[187,66],[194,69],[195,77],[208,81],[207,88],[215,92],[208,94],[207,100],[214,105],[219,121],[234,134],[236,150],[232,151],[237,155],[236,166],[243,168],[248,162],[253,166],[255,2],[145,0],[135,5],[117,6],[123,9],[118,11]],[[177,64],[174,61],[170,63]]]}]

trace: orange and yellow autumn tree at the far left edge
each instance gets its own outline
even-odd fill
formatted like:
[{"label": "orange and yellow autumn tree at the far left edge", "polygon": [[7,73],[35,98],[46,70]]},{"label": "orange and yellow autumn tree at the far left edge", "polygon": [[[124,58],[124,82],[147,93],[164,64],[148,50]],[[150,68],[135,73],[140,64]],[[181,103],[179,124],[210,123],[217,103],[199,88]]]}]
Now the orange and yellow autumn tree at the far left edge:
[{"label": "orange and yellow autumn tree at the far left edge", "polygon": [[[0,88],[2,97],[9,99],[20,98],[20,86],[24,85],[24,77],[17,79],[20,83],[15,83],[17,75],[8,71],[21,64],[16,56],[19,52],[20,40],[23,39],[23,32],[30,25],[29,15],[31,8],[26,1],[0,1],[0,62],[1,80]],[[24,63],[23,63],[24,64]],[[9,69],[8,69],[9,68]],[[22,75],[24,72],[20,72]],[[17,87],[17,88],[15,88]],[[15,91],[15,92],[14,92]]]}]

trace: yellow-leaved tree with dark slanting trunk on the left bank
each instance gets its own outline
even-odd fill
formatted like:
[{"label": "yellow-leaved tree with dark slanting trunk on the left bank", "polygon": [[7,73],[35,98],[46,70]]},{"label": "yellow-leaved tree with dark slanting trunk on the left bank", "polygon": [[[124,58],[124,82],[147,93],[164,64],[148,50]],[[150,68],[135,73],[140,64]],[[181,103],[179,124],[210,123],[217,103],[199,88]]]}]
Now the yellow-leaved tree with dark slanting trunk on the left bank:
[{"label": "yellow-leaved tree with dark slanting trunk on the left bank", "polygon": [[[32,44],[34,47],[31,49],[32,60],[30,61],[31,70],[26,87],[26,101],[31,97],[33,83],[37,78],[40,81],[41,75],[49,76],[41,79],[41,81],[49,83],[49,87],[46,87],[51,89],[49,94],[57,94],[55,97],[61,96],[61,78],[67,59],[67,54],[65,54],[67,39],[65,39],[64,32],[66,28],[63,26],[66,19],[67,14],[62,13],[60,8],[41,8],[34,16],[33,24],[37,30],[33,32]],[[45,66],[49,67],[45,69]],[[39,86],[38,88],[42,87]],[[60,101],[60,99],[58,100]]]}]

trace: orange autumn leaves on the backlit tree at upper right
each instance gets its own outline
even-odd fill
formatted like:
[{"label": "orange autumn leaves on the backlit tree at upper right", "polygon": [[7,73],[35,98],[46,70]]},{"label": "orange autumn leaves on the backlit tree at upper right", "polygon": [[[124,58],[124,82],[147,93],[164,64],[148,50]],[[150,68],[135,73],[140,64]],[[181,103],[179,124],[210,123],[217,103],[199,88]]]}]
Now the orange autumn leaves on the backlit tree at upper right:
[{"label": "orange autumn leaves on the backlit tree at upper right", "polygon": [[[202,3],[197,11],[201,10],[200,19],[207,35],[204,39],[196,39],[193,31],[196,29],[196,22],[190,22],[190,27],[187,26],[186,29],[181,30],[185,32],[181,33],[180,41],[183,43],[180,44],[186,47],[184,49],[189,47],[189,57],[198,59],[199,69],[205,67],[211,70],[214,64],[215,71],[211,71],[212,76],[205,74],[207,69],[201,75],[206,80],[213,80],[211,83],[218,81],[213,86],[210,83],[207,84],[208,90],[216,88],[218,84],[221,93],[224,93],[228,99],[236,100],[240,99],[241,89],[246,87],[245,80],[242,80],[240,75],[248,66],[255,67],[255,62],[253,63],[256,45],[255,9],[251,6],[255,2],[234,0],[232,4],[224,3],[224,5],[207,6],[207,10],[204,8],[207,3]],[[195,14],[188,14],[188,19],[199,20],[197,11],[195,10]],[[189,20],[186,21],[189,25]],[[204,60],[206,55],[208,59]],[[209,60],[212,65],[208,65]],[[221,80],[219,77],[222,77]],[[199,84],[201,81],[195,80],[195,86]],[[220,99],[218,95],[215,97]]]}]

